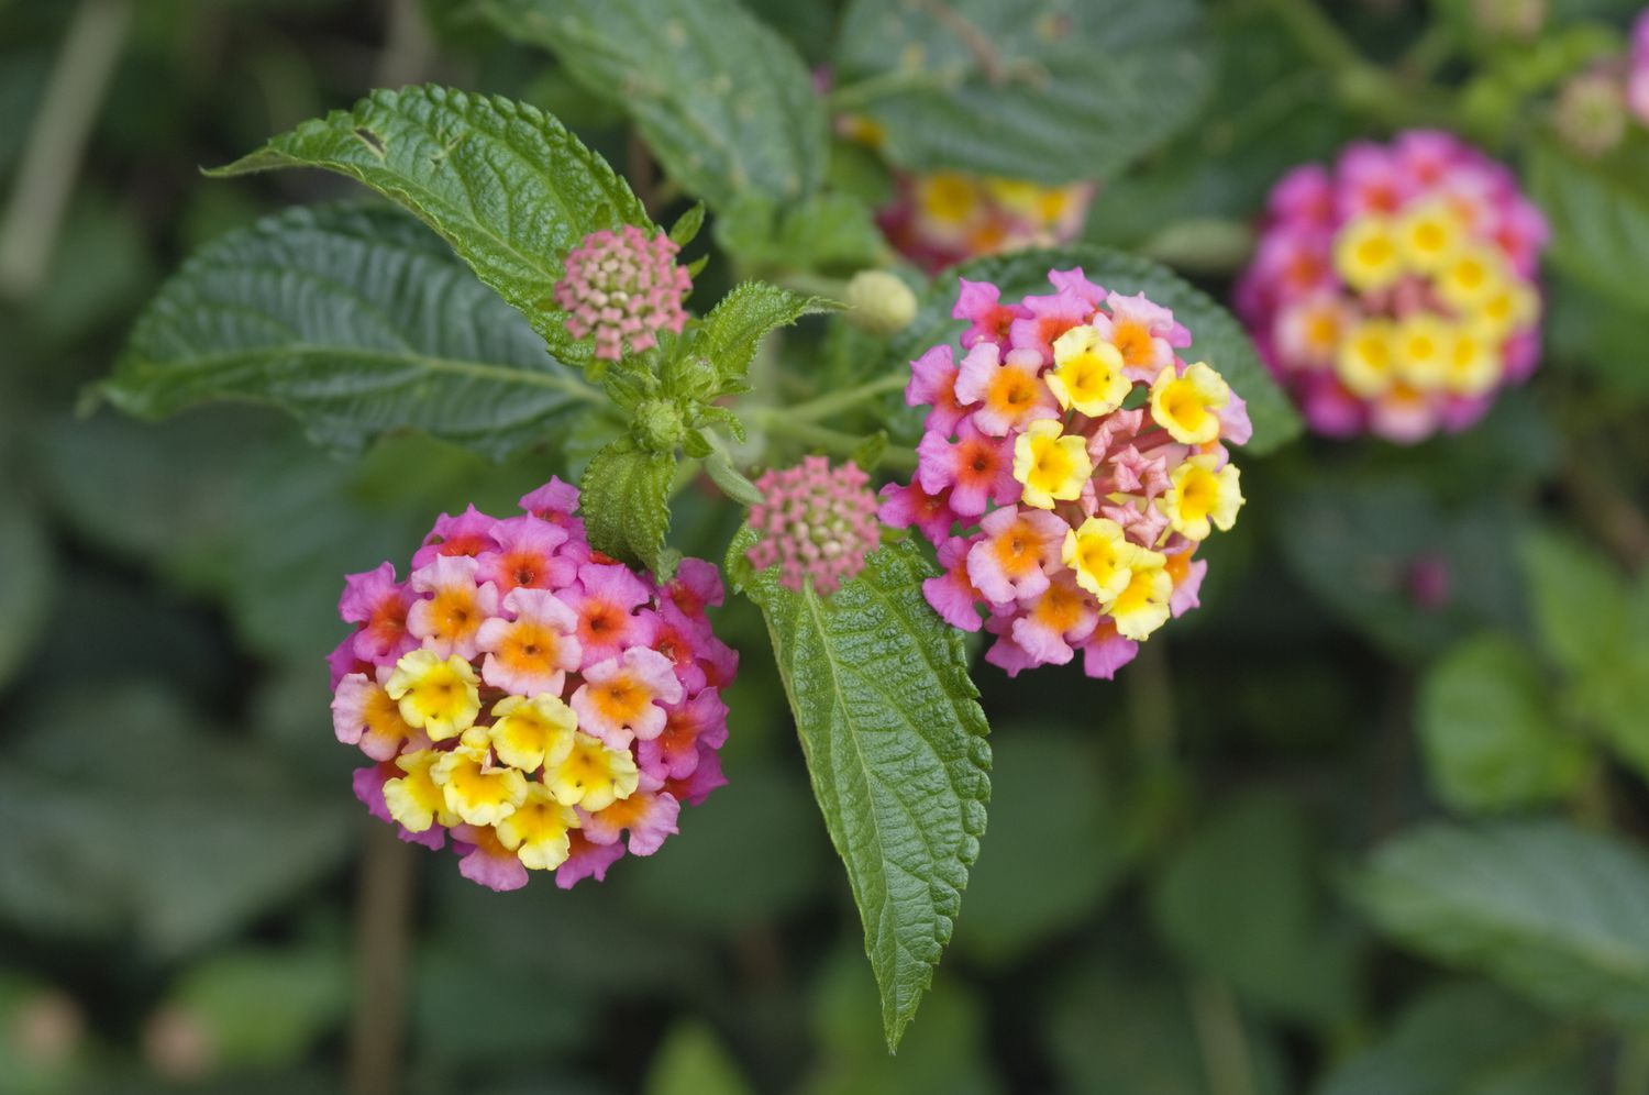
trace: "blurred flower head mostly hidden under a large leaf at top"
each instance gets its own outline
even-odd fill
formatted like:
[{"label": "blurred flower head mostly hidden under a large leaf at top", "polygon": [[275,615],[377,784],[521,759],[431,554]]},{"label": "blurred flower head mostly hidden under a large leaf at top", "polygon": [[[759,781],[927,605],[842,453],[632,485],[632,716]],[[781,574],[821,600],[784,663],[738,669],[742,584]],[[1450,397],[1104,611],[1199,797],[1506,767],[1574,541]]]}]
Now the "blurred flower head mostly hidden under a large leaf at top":
[{"label": "blurred flower head mostly hidden under a large leaf at top", "polygon": [[928,272],[963,259],[1049,247],[1082,231],[1092,183],[1042,186],[956,172],[897,176],[897,198],[877,221],[900,254]]}]

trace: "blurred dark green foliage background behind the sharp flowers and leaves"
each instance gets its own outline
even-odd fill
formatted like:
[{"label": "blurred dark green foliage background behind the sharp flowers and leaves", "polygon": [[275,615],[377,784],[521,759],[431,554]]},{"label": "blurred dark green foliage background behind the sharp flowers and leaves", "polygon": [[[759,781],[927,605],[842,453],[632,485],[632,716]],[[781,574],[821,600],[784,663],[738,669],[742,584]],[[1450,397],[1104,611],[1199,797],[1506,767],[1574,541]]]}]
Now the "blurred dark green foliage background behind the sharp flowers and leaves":
[{"label": "blurred dark green foliage background behind the sharp flowers and leaves", "polygon": [[[749,7],[810,64],[889,48],[836,3]],[[1130,97],[1102,81],[1073,109],[1177,135],[1103,163],[1085,234],[1220,297],[1271,181],[1395,119],[1299,21],[1326,8],[1163,7],[1139,51],[1115,43]],[[353,193],[198,165],[439,79],[556,112],[684,204],[620,109],[468,3],[0,0],[0,1090],[1649,1090],[1649,139],[1588,160],[1519,114],[1636,3],[1550,0],[1532,38],[1487,33],[1491,7],[1332,18],[1532,160],[1558,231],[1545,366],[1461,437],[1247,460],[1204,610],[1115,684],[980,670],[989,833],[889,1057],[749,605],[719,622],[744,650],[731,785],[653,861],[496,895],[369,836],[325,717],[340,576],[404,557],[440,510],[510,508],[577,437],[505,465],[416,435],[340,460],[257,409],[76,414],[183,256]],[[1039,106],[981,109],[1011,134]],[[920,124],[895,137],[937,155]],[[1034,134],[1003,142],[963,155],[1072,176],[1014,160]],[[31,157],[61,168],[45,191]],[[824,170],[801,213],[729,203],[714,237],[739,269],[879,254],[886,168],[839,143]],[[729,266],[712,254],[706,300]],[[826,335],[826,383],[862,374],[857,338]],[[691,488],[673,539],[719,557],[732,516]],[[366,900],[374,871],[411,871],[411,904]],[[386,953],[399,985],[361,973]]]}]

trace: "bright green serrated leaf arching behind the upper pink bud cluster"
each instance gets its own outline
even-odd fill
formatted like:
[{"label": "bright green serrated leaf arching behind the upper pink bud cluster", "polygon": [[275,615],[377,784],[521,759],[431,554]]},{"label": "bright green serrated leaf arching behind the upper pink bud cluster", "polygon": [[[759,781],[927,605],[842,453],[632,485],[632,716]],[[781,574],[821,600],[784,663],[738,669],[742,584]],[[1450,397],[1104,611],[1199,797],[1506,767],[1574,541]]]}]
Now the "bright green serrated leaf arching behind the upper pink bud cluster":
[{"label": "bright green serrated leaf arching behind the upper pink bud cluster", "polygon": [[561,122],[498,96],[374,91],[353,110],[303,122],[211,173],[282,167],[348,175],[416,213],[533,320],[562,361],[590,355],[551,297],[567,252],[600,228],[651,229],[630,186]]}]

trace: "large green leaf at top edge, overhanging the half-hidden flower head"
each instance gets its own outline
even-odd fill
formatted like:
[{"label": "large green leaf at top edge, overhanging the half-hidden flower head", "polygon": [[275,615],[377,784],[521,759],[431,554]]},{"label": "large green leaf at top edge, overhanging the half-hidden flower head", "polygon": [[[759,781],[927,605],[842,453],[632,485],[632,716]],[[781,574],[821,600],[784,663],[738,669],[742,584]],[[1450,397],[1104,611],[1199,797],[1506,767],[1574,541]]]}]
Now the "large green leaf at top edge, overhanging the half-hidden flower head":
[{"label": "large green leaf at top edge, overhanging the half-hidden flower head", "polygon": [[839,107],[902,167],[1106,178],[1191,120],[1209,87],[1192,0],[854,0]]}]

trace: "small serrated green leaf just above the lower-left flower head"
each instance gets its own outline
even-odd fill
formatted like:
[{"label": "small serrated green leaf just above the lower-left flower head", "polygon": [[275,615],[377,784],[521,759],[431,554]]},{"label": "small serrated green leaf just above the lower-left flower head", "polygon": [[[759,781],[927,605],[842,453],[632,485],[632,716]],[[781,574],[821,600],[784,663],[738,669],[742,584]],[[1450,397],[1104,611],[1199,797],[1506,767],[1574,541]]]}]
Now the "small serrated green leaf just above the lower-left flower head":
[{"label": "small serrated green leaf just above the lower-left flower head", "polygon": [[625,566],[663,572],[674,473],[674,455],[643,452],[627,439],[597,452],[579,482],[590,546]]}]

